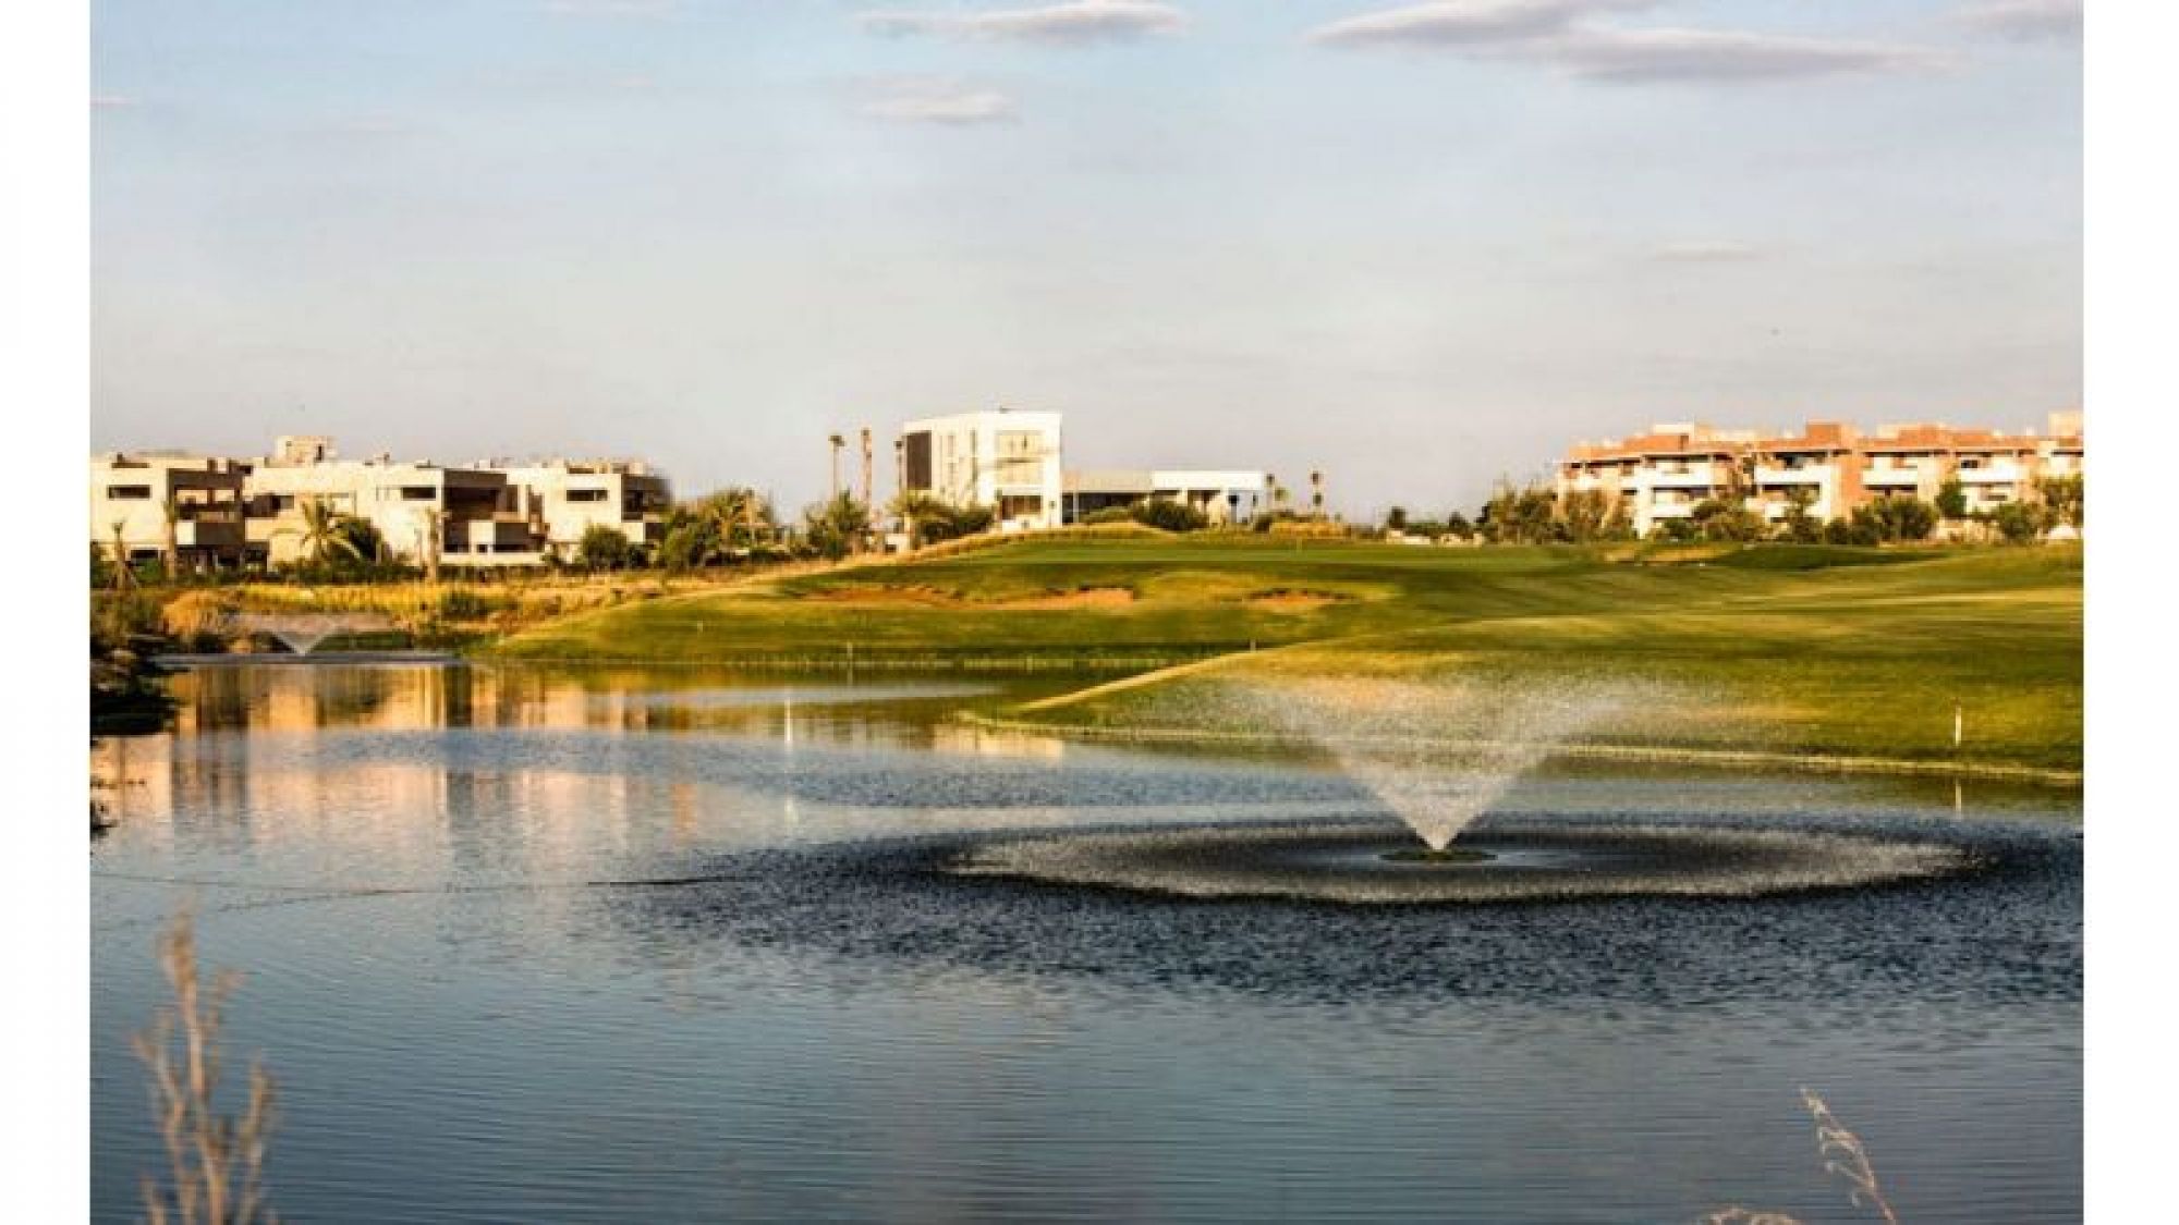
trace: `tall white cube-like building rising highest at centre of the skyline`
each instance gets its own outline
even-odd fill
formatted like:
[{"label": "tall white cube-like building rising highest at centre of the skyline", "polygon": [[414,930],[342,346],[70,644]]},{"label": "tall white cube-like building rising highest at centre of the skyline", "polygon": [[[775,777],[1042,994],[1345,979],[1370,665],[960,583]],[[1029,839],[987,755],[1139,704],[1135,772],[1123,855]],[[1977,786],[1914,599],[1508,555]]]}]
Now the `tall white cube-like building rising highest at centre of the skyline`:
[{"label": "tall white cube-like building rising highest at centre of the skyline", "polygon": [[948,506],[989,506],[1000,532],[1059,527],[1059,414],[961,412],[900,427],[900,486]]}]

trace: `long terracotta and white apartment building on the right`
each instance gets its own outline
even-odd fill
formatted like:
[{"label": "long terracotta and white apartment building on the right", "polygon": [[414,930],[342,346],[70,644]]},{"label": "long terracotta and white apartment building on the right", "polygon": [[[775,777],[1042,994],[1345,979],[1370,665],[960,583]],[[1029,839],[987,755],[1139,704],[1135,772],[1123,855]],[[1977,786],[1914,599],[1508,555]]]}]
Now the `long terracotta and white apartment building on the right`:
[{"label": "long terracotta and white apartment building on the right", "polygon": [[1968,512],[2037,497],[2042,477],[2079,475],[2081,412],[2053,412],[2046,432],[2007,434],[1941,423],[1883,425],[1870,434],[1811,421],[1800,434],[1654,425],[1610,442],[1580,442],[1558,464],[1558,495],[1602,493],[1647,536],[1704,501],[1728,501],[1778,521],[1804,504],[1843,519],[1878,497],[1935,501],[1959,482]]}]

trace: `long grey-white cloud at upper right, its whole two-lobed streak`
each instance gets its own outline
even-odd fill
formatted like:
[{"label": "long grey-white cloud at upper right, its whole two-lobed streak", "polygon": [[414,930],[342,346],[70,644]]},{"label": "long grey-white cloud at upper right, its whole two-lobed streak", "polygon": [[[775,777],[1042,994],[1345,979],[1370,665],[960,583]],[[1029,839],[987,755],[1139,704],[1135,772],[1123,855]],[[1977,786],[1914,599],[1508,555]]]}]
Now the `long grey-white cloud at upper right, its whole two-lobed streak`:
[{"label": "long grey-white cloud at upper right, its whole two-lobed streak", "polygon": [[1628,28],[1593,20],[1650,7],[1650,0],[1438,0],[1334,22],[1312,31],[1310,41],[1525,59],[1610,83],[1758,83],[1915,72],[1946,63],[1944,54],[1915,46],[1750,31]]}]

